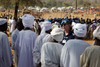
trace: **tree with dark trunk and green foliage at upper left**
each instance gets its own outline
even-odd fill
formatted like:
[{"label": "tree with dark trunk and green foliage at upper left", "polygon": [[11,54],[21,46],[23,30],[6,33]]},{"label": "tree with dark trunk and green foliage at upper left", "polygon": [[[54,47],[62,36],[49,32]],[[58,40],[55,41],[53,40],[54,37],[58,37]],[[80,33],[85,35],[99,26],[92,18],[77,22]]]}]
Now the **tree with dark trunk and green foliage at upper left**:
[{"label": "tree with dark trunk and green foliage at upper left", "polygon": [[15,17],[15,20],[17,21],[17,12],[18,12],[19,6],[22,6],[22,5],[25,7],[28,7],[30,5],[42,6],[42,2],[41,0],[0,0],[0,5],[5,8],[10,8],[10,7],[15,6],[14,17]]}]

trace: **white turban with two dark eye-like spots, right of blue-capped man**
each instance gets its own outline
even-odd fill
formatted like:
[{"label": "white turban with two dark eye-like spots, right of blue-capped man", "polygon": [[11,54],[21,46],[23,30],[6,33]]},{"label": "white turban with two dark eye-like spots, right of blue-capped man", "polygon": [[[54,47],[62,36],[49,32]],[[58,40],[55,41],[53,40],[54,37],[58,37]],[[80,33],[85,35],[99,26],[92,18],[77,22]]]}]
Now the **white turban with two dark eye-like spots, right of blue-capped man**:
[{"label": "white turban with two dark eye-like spots, right of blue-capped man", "polygon": [[77,37],[85,37],[86,36],[86,33],[87,33],[86,24],[77,23],[76,25],[74,25],[73,29],[74,29],[74,34]]}]

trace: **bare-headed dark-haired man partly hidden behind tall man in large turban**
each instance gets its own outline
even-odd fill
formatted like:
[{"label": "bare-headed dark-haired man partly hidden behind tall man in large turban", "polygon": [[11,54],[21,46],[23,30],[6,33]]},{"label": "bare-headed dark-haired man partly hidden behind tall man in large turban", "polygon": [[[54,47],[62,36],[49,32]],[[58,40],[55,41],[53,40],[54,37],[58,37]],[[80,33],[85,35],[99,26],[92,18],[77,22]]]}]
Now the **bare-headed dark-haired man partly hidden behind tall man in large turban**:
[{"label": "bare-headed dark-haired man partly hidden behind tall man in large turban", "polygon": [[16,43],[17,36],[19,35],[19,32],[24,28],[21,19],[18,20],[16,27],[17,28],[11,34],[11,43],[12,43],[12,49],[14,50],[15,67],[17,67],[17,65],[18,65],[17,54],[16,54],[16,51],[15,51],[15,43]]}]

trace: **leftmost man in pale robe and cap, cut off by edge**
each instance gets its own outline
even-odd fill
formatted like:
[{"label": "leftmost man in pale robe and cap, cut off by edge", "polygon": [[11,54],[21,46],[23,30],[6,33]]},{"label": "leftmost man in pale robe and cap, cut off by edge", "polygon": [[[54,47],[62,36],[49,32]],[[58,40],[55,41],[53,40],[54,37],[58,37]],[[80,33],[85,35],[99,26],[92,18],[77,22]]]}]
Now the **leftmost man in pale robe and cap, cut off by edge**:
[{"label": "leftmost man in pale robe and cap, cut off by edge", "polygon": [[0,67],[12,67],[12,53],[7,34],[6,19],[0,19]]}]

